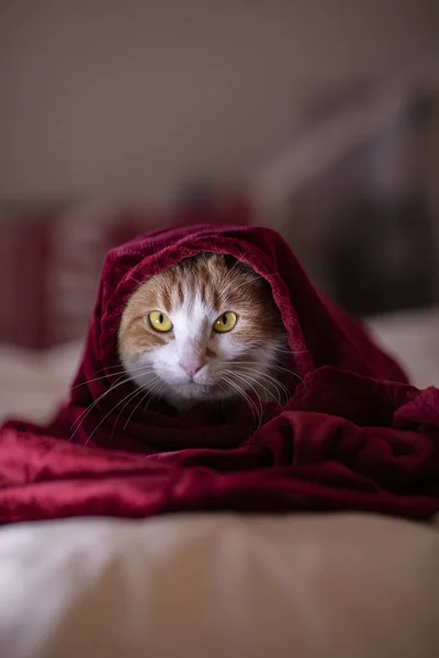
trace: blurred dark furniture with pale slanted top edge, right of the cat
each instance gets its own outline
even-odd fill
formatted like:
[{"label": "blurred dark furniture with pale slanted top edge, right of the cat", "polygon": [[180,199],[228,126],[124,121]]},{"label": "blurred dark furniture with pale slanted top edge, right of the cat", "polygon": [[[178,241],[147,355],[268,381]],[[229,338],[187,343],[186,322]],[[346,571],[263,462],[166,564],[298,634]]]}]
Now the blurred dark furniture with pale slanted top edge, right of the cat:
[{"label": "blurred dark furniture with pale slanted top edge, right of the cat", "polygon": [[439,53],[331,84],[250,178],[259,223],[359,317],[439,303]]}]

